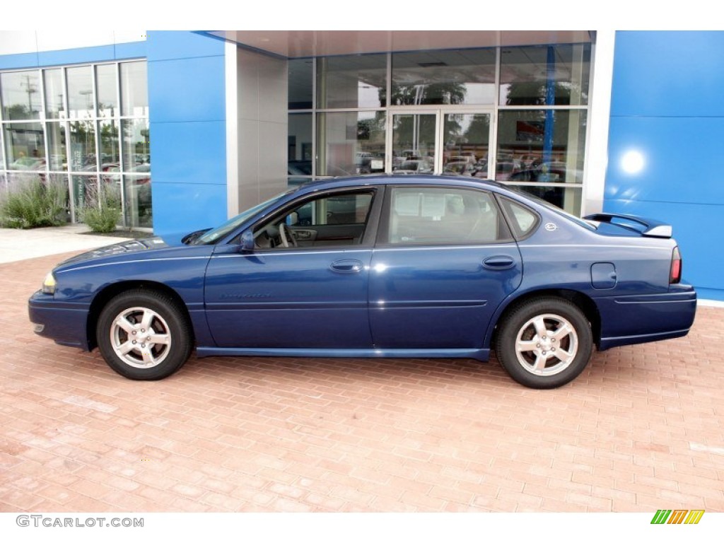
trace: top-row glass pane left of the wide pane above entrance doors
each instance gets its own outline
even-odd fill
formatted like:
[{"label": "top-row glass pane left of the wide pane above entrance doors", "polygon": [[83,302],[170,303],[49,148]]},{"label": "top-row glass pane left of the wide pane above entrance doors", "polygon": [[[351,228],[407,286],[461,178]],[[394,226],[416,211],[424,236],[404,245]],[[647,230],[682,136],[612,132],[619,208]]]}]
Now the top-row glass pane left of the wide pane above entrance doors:
[{"label": "top-row glass pane left of the wide pane above entrance doors", "polygon": [[387,105],[387,55],[332,56],[317,61],[317,107]]}]

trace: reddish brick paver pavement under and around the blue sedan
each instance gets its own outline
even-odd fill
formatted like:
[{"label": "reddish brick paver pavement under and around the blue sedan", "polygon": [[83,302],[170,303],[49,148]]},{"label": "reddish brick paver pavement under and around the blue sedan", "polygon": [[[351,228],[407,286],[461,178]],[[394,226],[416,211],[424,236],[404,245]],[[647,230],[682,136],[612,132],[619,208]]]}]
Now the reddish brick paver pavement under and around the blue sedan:
[{"label": "reddish brick paver pavement under and around the blue sedan", "polygon": [[60,259],[0,264],[0,511],[724,510],[724,309],[550,391],[422,359],[191,358],[132,382],[31,332]]}]

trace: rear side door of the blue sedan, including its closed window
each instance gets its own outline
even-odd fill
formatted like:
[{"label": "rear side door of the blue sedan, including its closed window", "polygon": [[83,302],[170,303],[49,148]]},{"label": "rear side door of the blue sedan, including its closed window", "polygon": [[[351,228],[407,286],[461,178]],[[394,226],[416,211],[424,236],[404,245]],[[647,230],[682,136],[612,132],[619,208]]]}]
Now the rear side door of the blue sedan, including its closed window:
[{"label": "rear side door of the blue sedan, including its closed window", "polygon": [[369,279],[375,348],[480,348],[522,271],[492,194],[388,188]]}]

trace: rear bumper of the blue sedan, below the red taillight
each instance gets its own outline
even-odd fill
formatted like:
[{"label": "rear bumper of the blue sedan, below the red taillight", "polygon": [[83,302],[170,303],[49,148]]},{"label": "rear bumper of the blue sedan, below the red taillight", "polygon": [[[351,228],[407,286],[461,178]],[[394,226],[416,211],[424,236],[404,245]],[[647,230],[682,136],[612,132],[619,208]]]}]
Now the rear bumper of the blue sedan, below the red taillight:
[{"label": "rear bumper of the blue sedan, below the red taillight", "polygon": [[691,285],[672,285],[664,294],[599,298],[596,303],[602,322],[599,350],[685,336],[696,316]]}]

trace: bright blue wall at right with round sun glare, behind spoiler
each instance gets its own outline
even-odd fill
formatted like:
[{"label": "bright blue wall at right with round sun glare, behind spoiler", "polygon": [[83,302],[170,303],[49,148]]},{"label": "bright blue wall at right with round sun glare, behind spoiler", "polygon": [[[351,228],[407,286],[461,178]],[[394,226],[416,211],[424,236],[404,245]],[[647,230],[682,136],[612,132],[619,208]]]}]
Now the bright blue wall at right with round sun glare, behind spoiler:
[{"label": "bright blue wall at right with round sun glare, behind spoiler", "polygon": [[604,210],[673,224],[685,279],[724,300],[724,32],[616,33],[612,91]]}]

